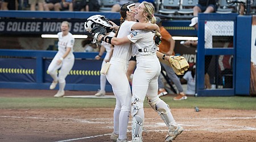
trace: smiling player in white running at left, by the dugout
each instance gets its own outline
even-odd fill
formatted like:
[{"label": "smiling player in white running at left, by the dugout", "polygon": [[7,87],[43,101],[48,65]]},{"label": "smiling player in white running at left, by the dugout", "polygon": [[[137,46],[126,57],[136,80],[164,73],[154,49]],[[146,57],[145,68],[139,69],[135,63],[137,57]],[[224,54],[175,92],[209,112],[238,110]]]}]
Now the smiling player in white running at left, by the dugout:
[{"label": "smiling player in white running at left, by the dugout", "polygon": [[[67,21],[61,23],[61,32],[57,35],[59,36],[58,52],[48,67],[48,73],[53,78],[53,82],[49,89],[55,89],[57,83],[59,83],[59,91],[57,91],[57,94],[55,94],[54,97],[63,97],[66,85],[65,78],[68,76],[68,73],[75,62],[75,57],[73,55],[75,39],[69,32],[69,23]],[[57,75],[58,69],[60,69],[59,76]]]}]

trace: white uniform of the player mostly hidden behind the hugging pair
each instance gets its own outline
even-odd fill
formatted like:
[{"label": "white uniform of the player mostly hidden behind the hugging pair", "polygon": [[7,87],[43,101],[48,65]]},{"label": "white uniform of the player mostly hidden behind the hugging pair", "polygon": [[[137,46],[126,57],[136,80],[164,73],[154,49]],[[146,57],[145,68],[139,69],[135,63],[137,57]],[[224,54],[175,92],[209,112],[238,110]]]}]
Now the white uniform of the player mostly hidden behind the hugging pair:
[{"label": "white uniform of the player mostly hidden behind the hugging pair", "polygon": [[[110,32],[108,36],[115,36],[114,32]],[[109,55],[111,51],[111,44],[106,43],[105,41],[102,41],[101,43],[102,46],[105,47],[106,49],[106,56],[104,57],[104,60],[102,61],[101,68],[106,64],[105,60],[109,60]],[[101,74],[100,76],[100,86],[101,86],[101,91],[105,91],[106,87],[106,76],[105,74]]]}]

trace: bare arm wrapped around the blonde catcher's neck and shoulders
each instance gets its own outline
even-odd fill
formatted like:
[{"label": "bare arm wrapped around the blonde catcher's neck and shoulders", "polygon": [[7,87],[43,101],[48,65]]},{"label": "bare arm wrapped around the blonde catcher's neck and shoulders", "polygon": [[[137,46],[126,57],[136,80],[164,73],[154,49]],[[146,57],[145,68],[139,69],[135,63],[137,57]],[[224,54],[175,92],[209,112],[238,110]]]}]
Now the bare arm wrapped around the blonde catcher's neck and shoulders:
[{"label": "bare arm wrapped around the blonde catcher's neck and shoulders", "polygon": [[140,23],[137,22],[131,26],[131,30],[147,30],[147,31],[153,31],[158,30],[160,32],[160,28],[157,24],[151,24],[151,23]]}]

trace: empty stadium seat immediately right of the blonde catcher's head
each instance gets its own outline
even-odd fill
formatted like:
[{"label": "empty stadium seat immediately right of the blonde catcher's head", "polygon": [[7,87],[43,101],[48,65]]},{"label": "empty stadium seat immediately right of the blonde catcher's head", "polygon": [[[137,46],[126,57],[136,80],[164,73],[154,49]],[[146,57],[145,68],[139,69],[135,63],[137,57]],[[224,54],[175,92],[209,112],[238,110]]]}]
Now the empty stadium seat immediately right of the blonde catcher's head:
[{"label": "empty stadium seat immediately right of the blonde catcher's head", "polygon": [[159,13],[176,14],[180,7],[180,0],[162,0]]}]

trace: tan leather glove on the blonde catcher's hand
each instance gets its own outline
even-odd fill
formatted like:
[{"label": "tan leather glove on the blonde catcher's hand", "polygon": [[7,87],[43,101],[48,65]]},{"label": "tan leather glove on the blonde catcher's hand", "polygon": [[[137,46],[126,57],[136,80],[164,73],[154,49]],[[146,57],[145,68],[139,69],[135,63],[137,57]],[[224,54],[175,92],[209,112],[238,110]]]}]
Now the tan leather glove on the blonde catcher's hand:
[{"label": "tan leather glove on the blonde catcher's hand", "polygon": [[170,56],[169,62],[177,75],[184,74],[188,70],[188,61],[183,56]]}]

